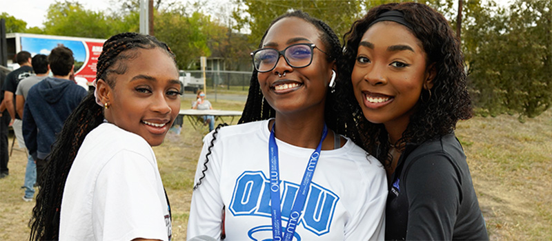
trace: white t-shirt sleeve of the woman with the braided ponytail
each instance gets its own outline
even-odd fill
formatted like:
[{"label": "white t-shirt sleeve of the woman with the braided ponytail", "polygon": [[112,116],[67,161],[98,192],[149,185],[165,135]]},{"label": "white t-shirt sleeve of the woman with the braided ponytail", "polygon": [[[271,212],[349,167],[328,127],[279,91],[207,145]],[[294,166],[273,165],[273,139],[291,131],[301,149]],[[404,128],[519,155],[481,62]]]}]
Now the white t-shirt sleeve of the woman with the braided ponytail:
[{"label": "white t-shirt sleeve of the woman with the braided ponytail", "polygon": [[153,160],[129,150],[101,169],[92,200],[97,240],[168,240],[156,171]]}]

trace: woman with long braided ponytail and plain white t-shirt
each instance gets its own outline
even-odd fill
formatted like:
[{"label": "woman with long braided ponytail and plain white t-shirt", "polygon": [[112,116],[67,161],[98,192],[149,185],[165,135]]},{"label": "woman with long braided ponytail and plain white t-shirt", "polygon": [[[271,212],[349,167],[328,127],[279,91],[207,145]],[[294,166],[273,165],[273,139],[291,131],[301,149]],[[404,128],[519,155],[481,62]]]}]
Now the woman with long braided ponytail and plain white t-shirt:
[{"label": "woman with long braided ponytail and plain white t-shirt", "polygon": [[[170,206],[151,149],[180,109],[175,56],[153,36],[103,44],[96,92],[48,156],[30,240],[170,240]],[[61,217],[61,218],[60,218]]]}]

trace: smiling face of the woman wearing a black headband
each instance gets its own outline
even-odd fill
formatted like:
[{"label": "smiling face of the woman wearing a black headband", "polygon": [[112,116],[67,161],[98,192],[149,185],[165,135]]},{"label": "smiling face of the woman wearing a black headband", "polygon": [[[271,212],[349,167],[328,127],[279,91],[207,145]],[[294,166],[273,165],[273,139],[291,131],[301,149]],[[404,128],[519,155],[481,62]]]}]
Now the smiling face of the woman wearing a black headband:
[{"label": "smiling face of the woman wearing a black headband", "polygon": [[427,69],[426,53],[408,28],[391,21],[372,25],[362,36],[351,74],[366,119],[402,133],[422,88],[431,89],[435,74]]}]

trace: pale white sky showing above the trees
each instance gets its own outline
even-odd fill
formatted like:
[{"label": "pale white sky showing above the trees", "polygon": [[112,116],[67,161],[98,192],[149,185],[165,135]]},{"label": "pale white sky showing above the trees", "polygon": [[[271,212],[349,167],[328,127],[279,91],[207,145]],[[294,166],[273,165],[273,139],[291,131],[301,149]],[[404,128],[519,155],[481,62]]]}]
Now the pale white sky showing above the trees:
[{"label": "pale white sky showing above the trees", "polygon": [[[0,12],[8,12],[17,19],[27,22],[27,28],[43,27],[46,19],[46,11],[50,4],[56,0],[0,0]],[[59,1],[59,0],[58,0]],[[87,10],[107,10],[110,7],[109,0],[77,0]],[[186,0],[181,0],[186,1]],[[213,0],[217,1],[217,0]],[[224,0],[228,2],[228,0]],[[495,0],[499,4],[506,4],[509,0]],[[218,1],[219,2],[219,1]]]}]

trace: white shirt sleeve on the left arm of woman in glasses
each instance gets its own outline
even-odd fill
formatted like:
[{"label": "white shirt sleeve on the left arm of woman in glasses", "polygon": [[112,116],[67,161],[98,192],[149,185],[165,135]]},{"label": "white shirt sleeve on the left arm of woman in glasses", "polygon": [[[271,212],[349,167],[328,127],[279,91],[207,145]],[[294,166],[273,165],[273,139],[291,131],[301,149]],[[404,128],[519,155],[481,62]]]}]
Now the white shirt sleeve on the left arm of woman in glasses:
[{"label": "white shirt sleeve on the left arm of woman in glasses", "polygon": [[[205,138],[201,155],[199,155],[197,161],[195,182],[203,176],[205,155],[208,153],[211,139],[212,136]],[[219,189],[221,174],[219,157],[222,156],[220,145],[221,143],[217,143],[215,140],[215,147],[219,148],[213,147],[207,163],[208,169],[204,172],[205,178],[201,180],[201,185],[193,191],[190,217],[188,218],[188,240],[199,235],[207,235],[220,240],[222,209],[224,206]]]}]

